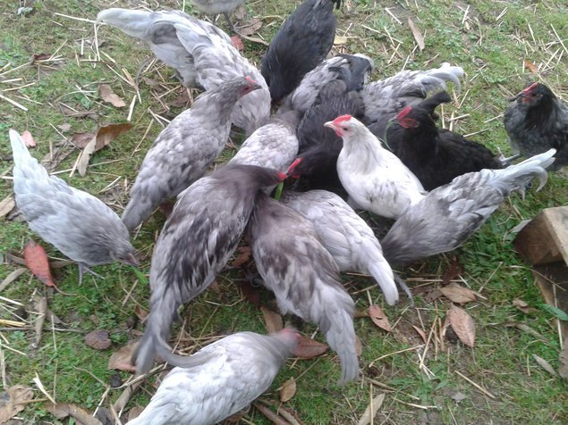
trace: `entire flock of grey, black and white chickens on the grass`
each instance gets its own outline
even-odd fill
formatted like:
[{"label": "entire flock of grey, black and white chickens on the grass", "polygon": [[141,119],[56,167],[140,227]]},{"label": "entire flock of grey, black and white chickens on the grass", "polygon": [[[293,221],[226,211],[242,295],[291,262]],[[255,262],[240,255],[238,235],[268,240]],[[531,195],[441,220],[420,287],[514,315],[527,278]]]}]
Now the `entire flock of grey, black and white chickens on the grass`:
[{"label": "entire flock of grey, black and white chickens on the grass", "polygon": [[[229,15],[242,0],[192,0]],[[339,381],[358,378],[354,303],[340,271],[376,280],[399,301],[393,270],[462,245],[514,190],[568,162],[568,106],[530,84],[511,99],[504,126],[526,159],[437,126],[463,71],[443,63],[370,81],[365,54],[327,58],[340,0],[304,0],[267,48],[260,70],[225,32],[183,12],[107,9],[97,21],[146,42],[186,87],[205,92],[161,131],[141,163],[122,218],[96,197],[49,176],[10,131],[16,203],[30,229],[83,271],[138,266],[129,231],[177,196],[152,254],[150,313],[134,354],[138,373],[159,355],[174,366],[136,424],[222,421],[270,386],[298,335],[239,332],[197,354],[172,353],[178,308],[205,290],[245,237],[281,312],[313,322],[339,356]],[[273,113],[274,111],[274,113]],[[232,125],[248,138],[208,173]],[[284,191],[272,197],[273,189]],[[355,210],[394,220],[382,240]],[[87,222],[87,225],[85,224]],[[88,229],[86,231],[85,229]]]}]

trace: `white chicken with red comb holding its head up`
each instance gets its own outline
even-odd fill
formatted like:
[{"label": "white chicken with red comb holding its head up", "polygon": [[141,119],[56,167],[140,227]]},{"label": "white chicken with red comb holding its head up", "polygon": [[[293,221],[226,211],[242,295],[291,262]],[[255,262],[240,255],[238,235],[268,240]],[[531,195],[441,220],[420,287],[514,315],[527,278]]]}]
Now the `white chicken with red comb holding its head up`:
[{"label": "white chicken with red comb holding its head up", "polygon": [[342,115],[325,125],[343,137],[337,174],[360,208],[397,219],[424,198],[419,179],[362,122]]}]

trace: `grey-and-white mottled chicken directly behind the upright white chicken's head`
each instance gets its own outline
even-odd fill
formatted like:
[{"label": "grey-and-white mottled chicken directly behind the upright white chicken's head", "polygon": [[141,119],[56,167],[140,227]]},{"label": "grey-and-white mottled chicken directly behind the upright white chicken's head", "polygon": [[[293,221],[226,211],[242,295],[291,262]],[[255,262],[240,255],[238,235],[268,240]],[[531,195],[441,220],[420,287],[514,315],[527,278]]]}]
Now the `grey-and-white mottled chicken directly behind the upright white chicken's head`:
[{"label": "grey-and-white mottled chicken directly behind the upright white chicken's head", "polygon": [[445,81],[452,81],[458,90],[462,88],[460,78],[463,70],[459,66],[442,63],[440,68],[428,71],[400,71],[393,77],[367,84],[361,90],[365,103],[363,122],[379,139],[385,139],[388,122],[405,106],[417,104],[428,93],[446,89]]}]

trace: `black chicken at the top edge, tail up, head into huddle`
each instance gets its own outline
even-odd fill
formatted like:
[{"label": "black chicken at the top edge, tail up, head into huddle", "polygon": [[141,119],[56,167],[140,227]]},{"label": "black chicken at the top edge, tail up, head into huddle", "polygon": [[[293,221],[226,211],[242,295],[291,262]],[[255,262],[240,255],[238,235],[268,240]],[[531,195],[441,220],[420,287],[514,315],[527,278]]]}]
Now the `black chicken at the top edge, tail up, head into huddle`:
[{"label": "black chicken at the top edge, tail up, head into huddle", "polygon": [[273,103],[292,93],[303,76],[326,59],[337,25],[334,4],[339,9],[341,0],[304,0],[270,42],[260,71]]}]

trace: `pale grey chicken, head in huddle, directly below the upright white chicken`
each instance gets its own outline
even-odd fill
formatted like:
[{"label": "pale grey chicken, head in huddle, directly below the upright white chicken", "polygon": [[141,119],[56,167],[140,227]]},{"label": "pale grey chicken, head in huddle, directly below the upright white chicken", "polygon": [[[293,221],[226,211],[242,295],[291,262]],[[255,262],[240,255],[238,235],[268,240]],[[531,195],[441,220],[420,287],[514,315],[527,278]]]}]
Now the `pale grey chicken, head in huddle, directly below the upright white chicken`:
[{"label": "pale grey chicken, head in huddle, directly below the upright white chicken", "polygon": [[326,190],[285,191],[280,200],[306,217],[340,271],[359,271],[377,280],[386,304],[398,301],[391,266],[369,225],[343,199]]}]

